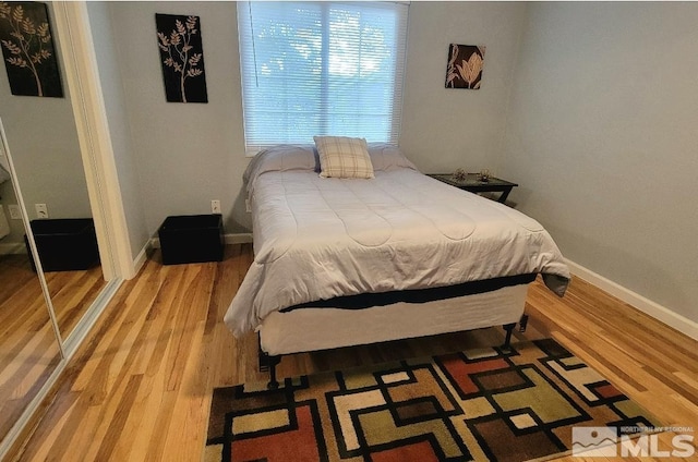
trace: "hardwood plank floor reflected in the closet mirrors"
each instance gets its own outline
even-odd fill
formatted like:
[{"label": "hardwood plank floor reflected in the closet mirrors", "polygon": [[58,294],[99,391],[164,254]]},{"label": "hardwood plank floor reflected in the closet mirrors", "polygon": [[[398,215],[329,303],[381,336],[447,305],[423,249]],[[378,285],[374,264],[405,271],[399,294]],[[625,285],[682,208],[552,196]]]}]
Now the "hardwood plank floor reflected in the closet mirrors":
[{"label": "hardwood plank floor reflected in the closet mirrors", "polygon": [[[105,287],[101,268],[46,272],[63,339]],[[26,254],[0,255],[0,438],[46,384],[60,351]]]}]

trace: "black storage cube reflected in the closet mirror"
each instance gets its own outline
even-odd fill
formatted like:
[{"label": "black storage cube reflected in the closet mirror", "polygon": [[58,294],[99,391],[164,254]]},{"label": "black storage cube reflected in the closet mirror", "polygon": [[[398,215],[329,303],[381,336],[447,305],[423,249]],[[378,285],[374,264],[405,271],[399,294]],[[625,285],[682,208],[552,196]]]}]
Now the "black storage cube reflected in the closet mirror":
[{"label": "black storage cube reflected in the closet mirror", "polygon": [[29,224],[44,271],[82,270],[99,263],[92,218],[40,219]]}]

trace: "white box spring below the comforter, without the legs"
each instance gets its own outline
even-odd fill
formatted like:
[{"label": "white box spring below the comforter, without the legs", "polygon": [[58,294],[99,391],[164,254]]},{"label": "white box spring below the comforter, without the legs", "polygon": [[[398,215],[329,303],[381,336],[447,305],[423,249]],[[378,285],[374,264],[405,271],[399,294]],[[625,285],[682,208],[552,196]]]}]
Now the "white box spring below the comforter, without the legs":
[{"label": "white box spring below the comforter, without the legs", "polygon": [[258,328],[270,355],[370,344],[518,323],[528,284],[422,304],[270,313]]}]

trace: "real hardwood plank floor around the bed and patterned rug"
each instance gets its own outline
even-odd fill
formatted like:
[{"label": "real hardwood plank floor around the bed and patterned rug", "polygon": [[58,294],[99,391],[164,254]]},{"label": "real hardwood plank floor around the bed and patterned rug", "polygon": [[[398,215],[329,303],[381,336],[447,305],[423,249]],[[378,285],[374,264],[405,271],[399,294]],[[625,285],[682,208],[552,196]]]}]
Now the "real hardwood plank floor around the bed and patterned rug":
[{"label": "real hardwood plank floor around the bed and patterned rug", "polygon": [[[161,266],[155,254],[119,290],[16,459],[200,460],[213,389],[266,379],[256,370],[255,336],[234,339],[221,321],[251,260],[250,245],[228,246],[222,263]],[[553,337],[666,425],[698,427],[698,342],[579,279],[564,299],[534,283],[527,312],[529,329],[516,335],[519,340]],[[503,338],[492,328],[299,354],[285,357],[278,373],[437,354]]]}]

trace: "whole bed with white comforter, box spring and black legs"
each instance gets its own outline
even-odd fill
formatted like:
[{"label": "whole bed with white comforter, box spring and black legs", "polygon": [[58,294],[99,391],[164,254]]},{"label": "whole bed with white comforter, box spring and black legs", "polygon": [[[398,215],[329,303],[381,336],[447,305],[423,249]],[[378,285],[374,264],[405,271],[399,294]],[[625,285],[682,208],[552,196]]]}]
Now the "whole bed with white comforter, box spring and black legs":
[{"label": "whole bed with white comforter, box spring and black legs", "polygon": [[[368,144],[370,179],[323,178],[312,145],[258,154],[244,173],[254,260],[225,323],[284,354],[507,326],[537,275],[569,271],[543,227]],[[274,365],[270,385],[275,385]]]}]

